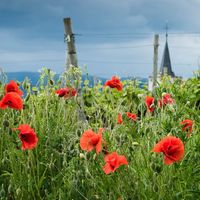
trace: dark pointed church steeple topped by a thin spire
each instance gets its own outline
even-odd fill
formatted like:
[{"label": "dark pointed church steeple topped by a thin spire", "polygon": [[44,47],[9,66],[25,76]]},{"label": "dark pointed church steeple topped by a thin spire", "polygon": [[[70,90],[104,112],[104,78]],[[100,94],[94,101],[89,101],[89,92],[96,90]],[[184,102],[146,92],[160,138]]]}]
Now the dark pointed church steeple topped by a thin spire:
[{"label": "dark pointed church steeple topped by a thin spire", "polygon": [[166,42],[165,42],[165,49],[162,57],[162,62],[160,66],[160,74],[161,75],[169,75],[175,77],[174,72],[172,71],[169,48],[168,48],[168,26],[166,25]]}]

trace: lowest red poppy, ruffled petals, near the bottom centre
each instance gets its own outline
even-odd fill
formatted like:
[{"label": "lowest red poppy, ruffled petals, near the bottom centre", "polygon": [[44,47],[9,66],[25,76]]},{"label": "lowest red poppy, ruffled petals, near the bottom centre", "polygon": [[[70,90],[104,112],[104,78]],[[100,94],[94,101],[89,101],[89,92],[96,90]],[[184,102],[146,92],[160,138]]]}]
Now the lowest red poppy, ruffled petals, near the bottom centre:
[{"label": "lowest red poppy, ruffled petals, near the bottom centre", "polygon": [[125,156],[118,155],[116,152],[112,152],[104,157],[106,164],[103,166],[103,171],[106,174],[114,172],[121,165],[128,165],[128,161]]}]

